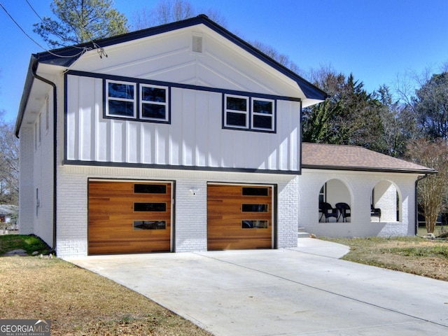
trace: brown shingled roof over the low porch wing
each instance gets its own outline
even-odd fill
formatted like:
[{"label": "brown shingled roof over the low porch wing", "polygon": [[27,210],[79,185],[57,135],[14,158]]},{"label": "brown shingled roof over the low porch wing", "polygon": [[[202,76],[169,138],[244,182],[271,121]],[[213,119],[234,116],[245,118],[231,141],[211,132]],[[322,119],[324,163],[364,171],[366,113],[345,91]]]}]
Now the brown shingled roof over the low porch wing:
[{"label": "brown shingled roof over the low porch wing", "polygon": [[416,174],[436,173],[434,169],[392,158],[360,146],[309,143],[302,144],[302,168]]}]

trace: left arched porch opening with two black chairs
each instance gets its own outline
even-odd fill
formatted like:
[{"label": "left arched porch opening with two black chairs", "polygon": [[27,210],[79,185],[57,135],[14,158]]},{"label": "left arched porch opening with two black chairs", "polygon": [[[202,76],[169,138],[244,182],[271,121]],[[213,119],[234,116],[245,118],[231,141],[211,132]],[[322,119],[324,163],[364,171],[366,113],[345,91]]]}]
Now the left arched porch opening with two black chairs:
[{"label": "left arched porch opening with two black chairs", "polygon": [[351,194],[341,180],[331,179],[321,186],[318,196],[318,221],[351,222]]}]

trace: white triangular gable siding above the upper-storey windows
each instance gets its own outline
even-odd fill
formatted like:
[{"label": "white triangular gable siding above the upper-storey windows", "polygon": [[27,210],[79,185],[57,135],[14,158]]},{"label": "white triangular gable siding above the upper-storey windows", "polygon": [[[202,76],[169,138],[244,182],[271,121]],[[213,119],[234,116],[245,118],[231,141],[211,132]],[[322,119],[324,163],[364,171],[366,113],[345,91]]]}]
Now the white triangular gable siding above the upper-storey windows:
[{"label": "white triangular gable siding above the upper-storey windows", "polygon": [[[192,52],[193,36],[202,36],[202,52]],[[72,70],[106,73],[226,90],[300,97],[293,80],[267,66],[235,43],[199,25],[86,52]]]}]

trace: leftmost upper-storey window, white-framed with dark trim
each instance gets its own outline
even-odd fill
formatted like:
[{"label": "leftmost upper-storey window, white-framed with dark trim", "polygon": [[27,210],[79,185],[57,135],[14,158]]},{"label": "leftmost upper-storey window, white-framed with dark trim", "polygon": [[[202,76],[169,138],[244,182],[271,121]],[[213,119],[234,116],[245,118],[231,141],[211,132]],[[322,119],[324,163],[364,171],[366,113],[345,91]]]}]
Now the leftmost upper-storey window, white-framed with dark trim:
[{"label": "leftmost upper-storey window, white-framed with dark trim", "polygon": [[106,116],[136,118],[137,84],[106,80]]}]

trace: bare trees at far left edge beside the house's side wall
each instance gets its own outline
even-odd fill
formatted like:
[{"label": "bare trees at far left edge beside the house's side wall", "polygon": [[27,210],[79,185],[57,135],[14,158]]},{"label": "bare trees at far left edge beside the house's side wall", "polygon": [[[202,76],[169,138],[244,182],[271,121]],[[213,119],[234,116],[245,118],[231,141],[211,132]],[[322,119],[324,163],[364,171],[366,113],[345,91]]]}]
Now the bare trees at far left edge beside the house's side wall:
[{"label": "bare trees at far left edge beside the house's side wall", "polygon": [[0,111],[0,204],[18,204],[19,144],[12,123]]}]

